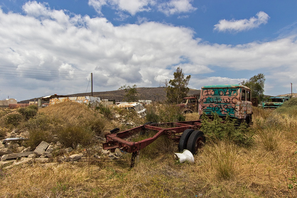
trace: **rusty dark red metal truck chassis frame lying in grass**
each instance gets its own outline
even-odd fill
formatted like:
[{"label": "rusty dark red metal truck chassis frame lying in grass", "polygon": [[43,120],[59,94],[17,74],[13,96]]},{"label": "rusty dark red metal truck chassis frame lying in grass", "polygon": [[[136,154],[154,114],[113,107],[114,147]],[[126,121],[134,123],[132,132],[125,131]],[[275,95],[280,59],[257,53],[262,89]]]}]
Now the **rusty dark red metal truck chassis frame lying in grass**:
[{"label": "rusty dark red metal truck chassis frame lying in grass", "polygon": [[[135,153],[140,149],[145,148],[157,138],[162,135],[167,135],[167,138],[172,139],[174,141],[179,141],[181,135],[178,133],[184,132],[186,129],[200,129],[201,120],[196,121],[184,121],[184,122],[168,122],[168,123],[161,123],[161,124],[148,124],[135,127],[133,129],[128,129],[123,132],[119,132],[116,134],[107,134],[106,142],[103,143],[103,149],[108,150],[110,149],[111,152],[114,152],[116,148],[121,149],[121,151],[125,151],[128,153]],[[170,128],[165,128],[162,126],[173,126]],[[138,142],[130,142],[124,140],[124,138],[131,137],[134,134],[144,132],[145,129],[151,129],[156,131],[156,134],[153,137],[149,137],[144,140],[140,140]]]}]

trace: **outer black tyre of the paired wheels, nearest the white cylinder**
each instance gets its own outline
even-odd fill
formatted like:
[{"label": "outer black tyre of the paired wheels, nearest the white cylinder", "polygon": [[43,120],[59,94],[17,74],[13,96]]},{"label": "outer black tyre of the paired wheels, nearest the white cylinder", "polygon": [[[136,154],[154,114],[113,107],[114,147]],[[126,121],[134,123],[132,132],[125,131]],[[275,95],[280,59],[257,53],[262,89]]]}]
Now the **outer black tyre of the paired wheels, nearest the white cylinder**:
[{"label": "outer black tyre of the paired wheels, nearest the white cylinder", "polygon": [[191,151],[191,153],[194,155],[195,153],[197,153],[198,148],[201,148],[204,143],[204,133],[202,131],[194,131],[188,139],[187,150]]}]

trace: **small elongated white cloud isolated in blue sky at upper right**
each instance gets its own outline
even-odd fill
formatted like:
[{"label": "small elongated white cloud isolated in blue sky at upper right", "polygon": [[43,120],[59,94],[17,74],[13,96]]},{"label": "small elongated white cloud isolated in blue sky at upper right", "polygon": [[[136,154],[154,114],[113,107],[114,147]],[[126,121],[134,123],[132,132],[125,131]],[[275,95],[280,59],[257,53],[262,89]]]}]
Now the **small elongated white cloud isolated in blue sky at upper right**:
[{"label": "small elongated white cloud isolated in blue sky at upper right", "polygon": [[268,14],[263,11],[260,11],[256,14],[256,17],[251,17],[249,19],[241,19],[241,20],[219,20],[219,23],[214,25],[214,30],[217,31],[230,31],[230,32],[239,32],[245,31],[253,28],[259,27],[261,24],[266,24],[268,19],[270,18]]}]

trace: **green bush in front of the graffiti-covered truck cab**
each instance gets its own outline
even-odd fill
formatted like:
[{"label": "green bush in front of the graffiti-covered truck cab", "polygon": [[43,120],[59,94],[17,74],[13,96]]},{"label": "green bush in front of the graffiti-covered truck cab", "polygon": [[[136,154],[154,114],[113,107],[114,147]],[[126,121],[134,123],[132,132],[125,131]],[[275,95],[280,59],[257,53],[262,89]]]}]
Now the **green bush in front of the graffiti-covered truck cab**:
[{"label": "green bush in front of the graffiti-covered truck cab", "polygon": [[236,145],[249,146],[254,142],[254,132],[248,128],[246,123],[236,127],[236,120],[227,116],[222,123],[217,113],[213,113],[213,121],[203,113],[200,130],[206,134],[206,138],[216,142],[217,140],[228,140]]}]

